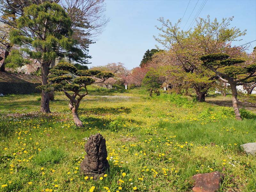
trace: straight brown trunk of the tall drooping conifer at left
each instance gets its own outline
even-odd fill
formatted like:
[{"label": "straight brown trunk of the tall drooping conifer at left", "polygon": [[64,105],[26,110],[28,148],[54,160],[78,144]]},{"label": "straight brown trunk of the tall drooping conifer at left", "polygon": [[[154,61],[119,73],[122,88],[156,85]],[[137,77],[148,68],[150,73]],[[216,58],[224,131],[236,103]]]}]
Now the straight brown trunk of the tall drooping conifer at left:
[{"label": "straight brown trunk of the tall drooping conifer at left", "polygon": [[[49,67],[49,62],[44,62],[42,60],[42,64],[41,64],[42,85],[46,85],[47,84],[47,75],[49,73],[48,67]],[[45,92],[44,90],[42,90],[41,109],[40,109],[41,112],[43,112],[43,113],[51,113],[50,106],[49,106],[50,103],[49,102],[50,102],[49,92]]]}]

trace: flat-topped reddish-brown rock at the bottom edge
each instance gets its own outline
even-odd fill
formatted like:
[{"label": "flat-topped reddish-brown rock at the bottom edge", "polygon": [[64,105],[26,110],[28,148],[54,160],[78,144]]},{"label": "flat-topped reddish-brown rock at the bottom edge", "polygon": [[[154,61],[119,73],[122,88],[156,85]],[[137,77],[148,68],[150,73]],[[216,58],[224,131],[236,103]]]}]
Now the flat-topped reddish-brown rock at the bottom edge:
[{"label": "flat-topped reddish-brown rock at the bottom edge", "polygon": [[195,192],[214,192],[220,189],[220,184],[224,179],[224,174],[221,172],[196,174],[192,177],[195,181],[192,188]]}]

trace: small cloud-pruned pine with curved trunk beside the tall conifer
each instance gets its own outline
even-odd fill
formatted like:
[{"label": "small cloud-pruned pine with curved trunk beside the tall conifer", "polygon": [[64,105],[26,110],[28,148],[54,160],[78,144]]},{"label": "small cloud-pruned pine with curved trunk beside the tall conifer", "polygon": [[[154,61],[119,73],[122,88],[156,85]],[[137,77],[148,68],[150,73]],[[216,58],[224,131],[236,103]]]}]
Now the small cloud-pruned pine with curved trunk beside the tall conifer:
[{"label": "small cloud-pruned pine with curved trunk beside the tall conifer", "polygon": [[[77,110],[80,101],[88,94],[87,85],[97,84],[106,81],[114,75],[109,72],[101,72],[99,70],[77,70],[70,63],[58,63],[50,70],[48,75],[52,84],[38,86],[37,88],[50,92],[52,90],[60,90],[65,93],[69,99],[69,108],[76,126],[83,127],[82,121],[79,119]],[[70,92],[73,92],[70,94]],[[83,93],[81,93],[83,92]]]}]

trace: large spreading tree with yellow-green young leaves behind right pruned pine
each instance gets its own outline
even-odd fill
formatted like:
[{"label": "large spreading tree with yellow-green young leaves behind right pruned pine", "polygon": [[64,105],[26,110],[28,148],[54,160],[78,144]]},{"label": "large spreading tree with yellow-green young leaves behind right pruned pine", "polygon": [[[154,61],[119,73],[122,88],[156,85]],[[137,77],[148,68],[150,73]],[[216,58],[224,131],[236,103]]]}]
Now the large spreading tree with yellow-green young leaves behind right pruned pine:
[{"label": "large spreading tree with yellow-green young leaves behind right pruned pine", "polygon": [[171,57],[176,58],[169,65],[179,66],[187,73],[186,82],[195,89],[199,102],[204,101],[205,94],[216,79],[211,70],[201,65],[200,56],[222,52],[228,42],[245,35],[245,31],[241,32],[239,28],[228,28],[232,19],[218,22],[217,19],[210,21],[209,16],[207,19],[200,18],[196,27],[188,31],[180,30],[180,20],[173,25],[170,20],[159,19],[162,27],[157,29],[162,33],[155,39],[166,48]]}]

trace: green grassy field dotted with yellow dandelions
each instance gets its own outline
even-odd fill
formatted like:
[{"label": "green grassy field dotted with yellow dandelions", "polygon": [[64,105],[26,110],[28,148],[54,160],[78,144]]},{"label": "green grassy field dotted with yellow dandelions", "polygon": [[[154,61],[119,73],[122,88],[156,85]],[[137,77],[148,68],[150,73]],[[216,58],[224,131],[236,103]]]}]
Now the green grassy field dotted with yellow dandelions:
[{"label": "green grassy field dotted with yellow dandelions", "polygon": [[[57,93],[47,115],[37,112],[39,94],[0,98],[0,191],[191,191],[191,176],[213,171],[226,176],[221,191],[256,191],[256,158],[240,148],[256,142],[252,111],[236,121],[230,107],[91,86],[77,128],[64,98]],[[98,132],[110,171],[92,180],[79,165]]]}]

